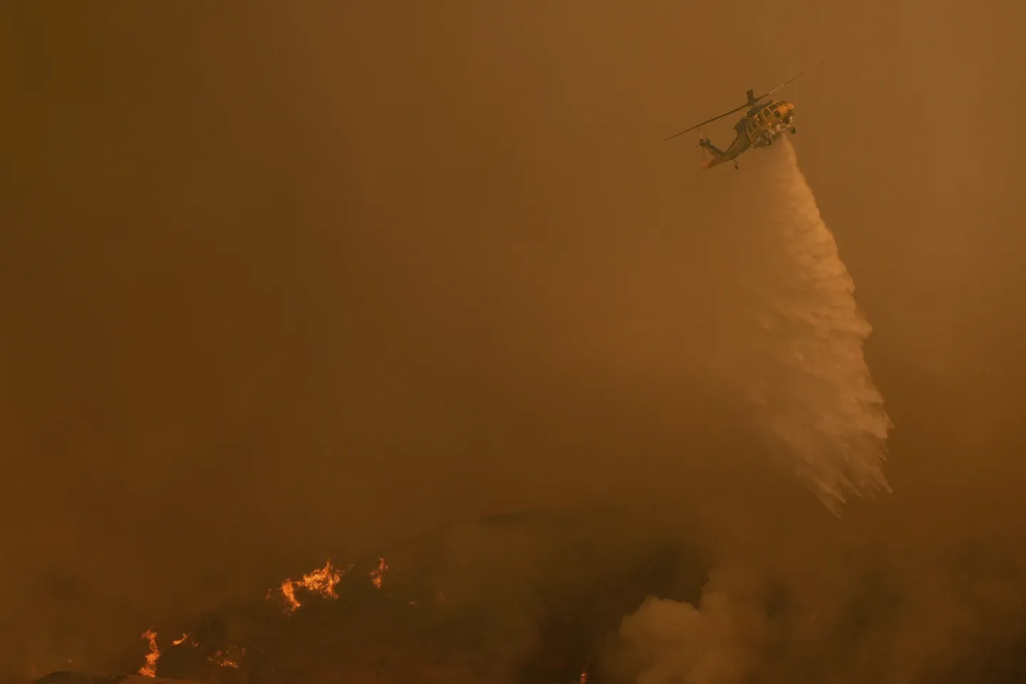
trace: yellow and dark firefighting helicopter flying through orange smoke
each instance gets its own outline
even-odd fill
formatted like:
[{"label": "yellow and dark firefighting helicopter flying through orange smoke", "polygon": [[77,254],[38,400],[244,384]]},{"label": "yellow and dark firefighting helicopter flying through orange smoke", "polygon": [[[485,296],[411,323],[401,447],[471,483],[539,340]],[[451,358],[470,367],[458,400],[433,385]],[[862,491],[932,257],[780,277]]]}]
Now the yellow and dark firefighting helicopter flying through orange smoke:
[{"label": "yellow and dark firefighting helicopter flying through orange smoke", "polygon": [[[825,59],[823,62],[825,62]],[[822,65],[823,62],[817,64],[816,67]],[[816,67],[813,67],[813,69]],[[803,76],[808,71],[811,70],[805,70],[797,76],[792,76],[773,90],[764,92],[758,97],[755,96],[754,90],[749,90],[747,92],[748,100],[741,107],[736,107],[729,112],[724,112],[719,116],[714,116],[713,118],[707,119],[700,124],[692,126],[690,128],[685,128],[680,132],[670,135],[666,139],[672,140],[678,135],[682,135],[683,133],[697,128],[699,131],[699,144],[696,147],[703,149],[703,158],[705,158],[705,150],[708,150],[710,154],[712,154],[712,159],[704,161],[702,168],[712,168],[713,166],[719,166],[720,164],[728,161],[733,161],[734,168],[738,168],[738,157],[745,152],[754,148],[764,148],[773,145],[773,142],[782,135],[785,130],[790,130],[792,135],[797,132],[794,127],[793,103],[786,99],[773,99],[766,103],[763,103],[762,100],[783,88],[785,85],[788,85],[795,79]],[[740,112],[746,108],[748,111],[745,113],[745,116],[742,117],[742,119],[734,126],[734,142],[731,143],[726,150],[720,150],[713,145],[708,137],[702,137],[702,126],[707,123],[712,123],[717,119],[722,119],[723,117],[729,116],[736,112]]]}]

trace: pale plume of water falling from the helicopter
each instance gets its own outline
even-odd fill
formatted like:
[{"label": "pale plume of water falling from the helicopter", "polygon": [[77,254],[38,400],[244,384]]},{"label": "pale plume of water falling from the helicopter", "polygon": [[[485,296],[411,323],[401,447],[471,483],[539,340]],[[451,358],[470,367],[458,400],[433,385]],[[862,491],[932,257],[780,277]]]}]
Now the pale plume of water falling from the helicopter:
[{"label": "pale plume of water falling from the helicopter", "polygon": [[747,216],[731,216],[748,247],[734,259],[744,323],[724,365],[778,462],[839,515],[851,494],[890,491],[893,426],[863,353],[872,327],[791,143],[782,136],[746,157],[743,188],[732,190],[750,200]]}]

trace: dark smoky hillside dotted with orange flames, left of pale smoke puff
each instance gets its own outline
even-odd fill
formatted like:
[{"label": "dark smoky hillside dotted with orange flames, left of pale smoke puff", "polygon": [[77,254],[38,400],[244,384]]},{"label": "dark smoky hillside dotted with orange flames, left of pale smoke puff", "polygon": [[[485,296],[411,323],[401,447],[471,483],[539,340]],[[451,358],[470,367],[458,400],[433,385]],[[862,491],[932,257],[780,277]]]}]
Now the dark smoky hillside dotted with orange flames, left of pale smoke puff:
[{"label": "dark smoky hillside dotted with orange flames, left of pale smoke puff", "polygon": [[[505,521],[498,533],[456,534],[455,544],[474,550],[466,556],[452,551],[450,539],[440,545],[432,537],[423,547],[393,550],[388,559],[344,566],[327,560],[252,601],[188,623],[158,621],[142,634],[145,650],[135,645],[111,669],[157,683],[319,684],[343,677],[377,684],[601,684],[593,649],[659,588],[645,576],[644,587],[623,600],[594,601],[596,589],[609,587],[567,582],[557,576],[560,568],[581,564],[562,559],[547,560],[539,566],[547,570],[525,579],[517,545],[532,532],[520,525]],[[492,551],[478,556],[482,539]],[[560,555],[577,553],[553,546]],[[598,575],[623,589],[608,563],[595,567],[592,578]]]}]

